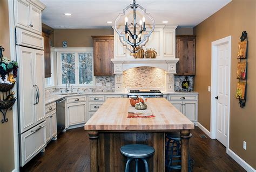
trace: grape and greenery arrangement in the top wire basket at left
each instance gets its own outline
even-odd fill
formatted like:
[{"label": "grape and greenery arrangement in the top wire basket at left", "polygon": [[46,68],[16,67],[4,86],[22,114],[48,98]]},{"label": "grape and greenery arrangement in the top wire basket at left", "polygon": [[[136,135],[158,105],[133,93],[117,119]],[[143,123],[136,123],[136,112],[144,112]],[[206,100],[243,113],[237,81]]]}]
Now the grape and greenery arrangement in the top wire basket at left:
[{"label": "grape and greenery arrangement in the top wire basket at left", "polygon": [[[2,80],[5,80],[6,75],[13,75],[17,77],[18,63],[16,61],[10,61],[8,58],[3,57],[0,62],[0,75]],[[10,74],[12,72],[12,74]]]}]

